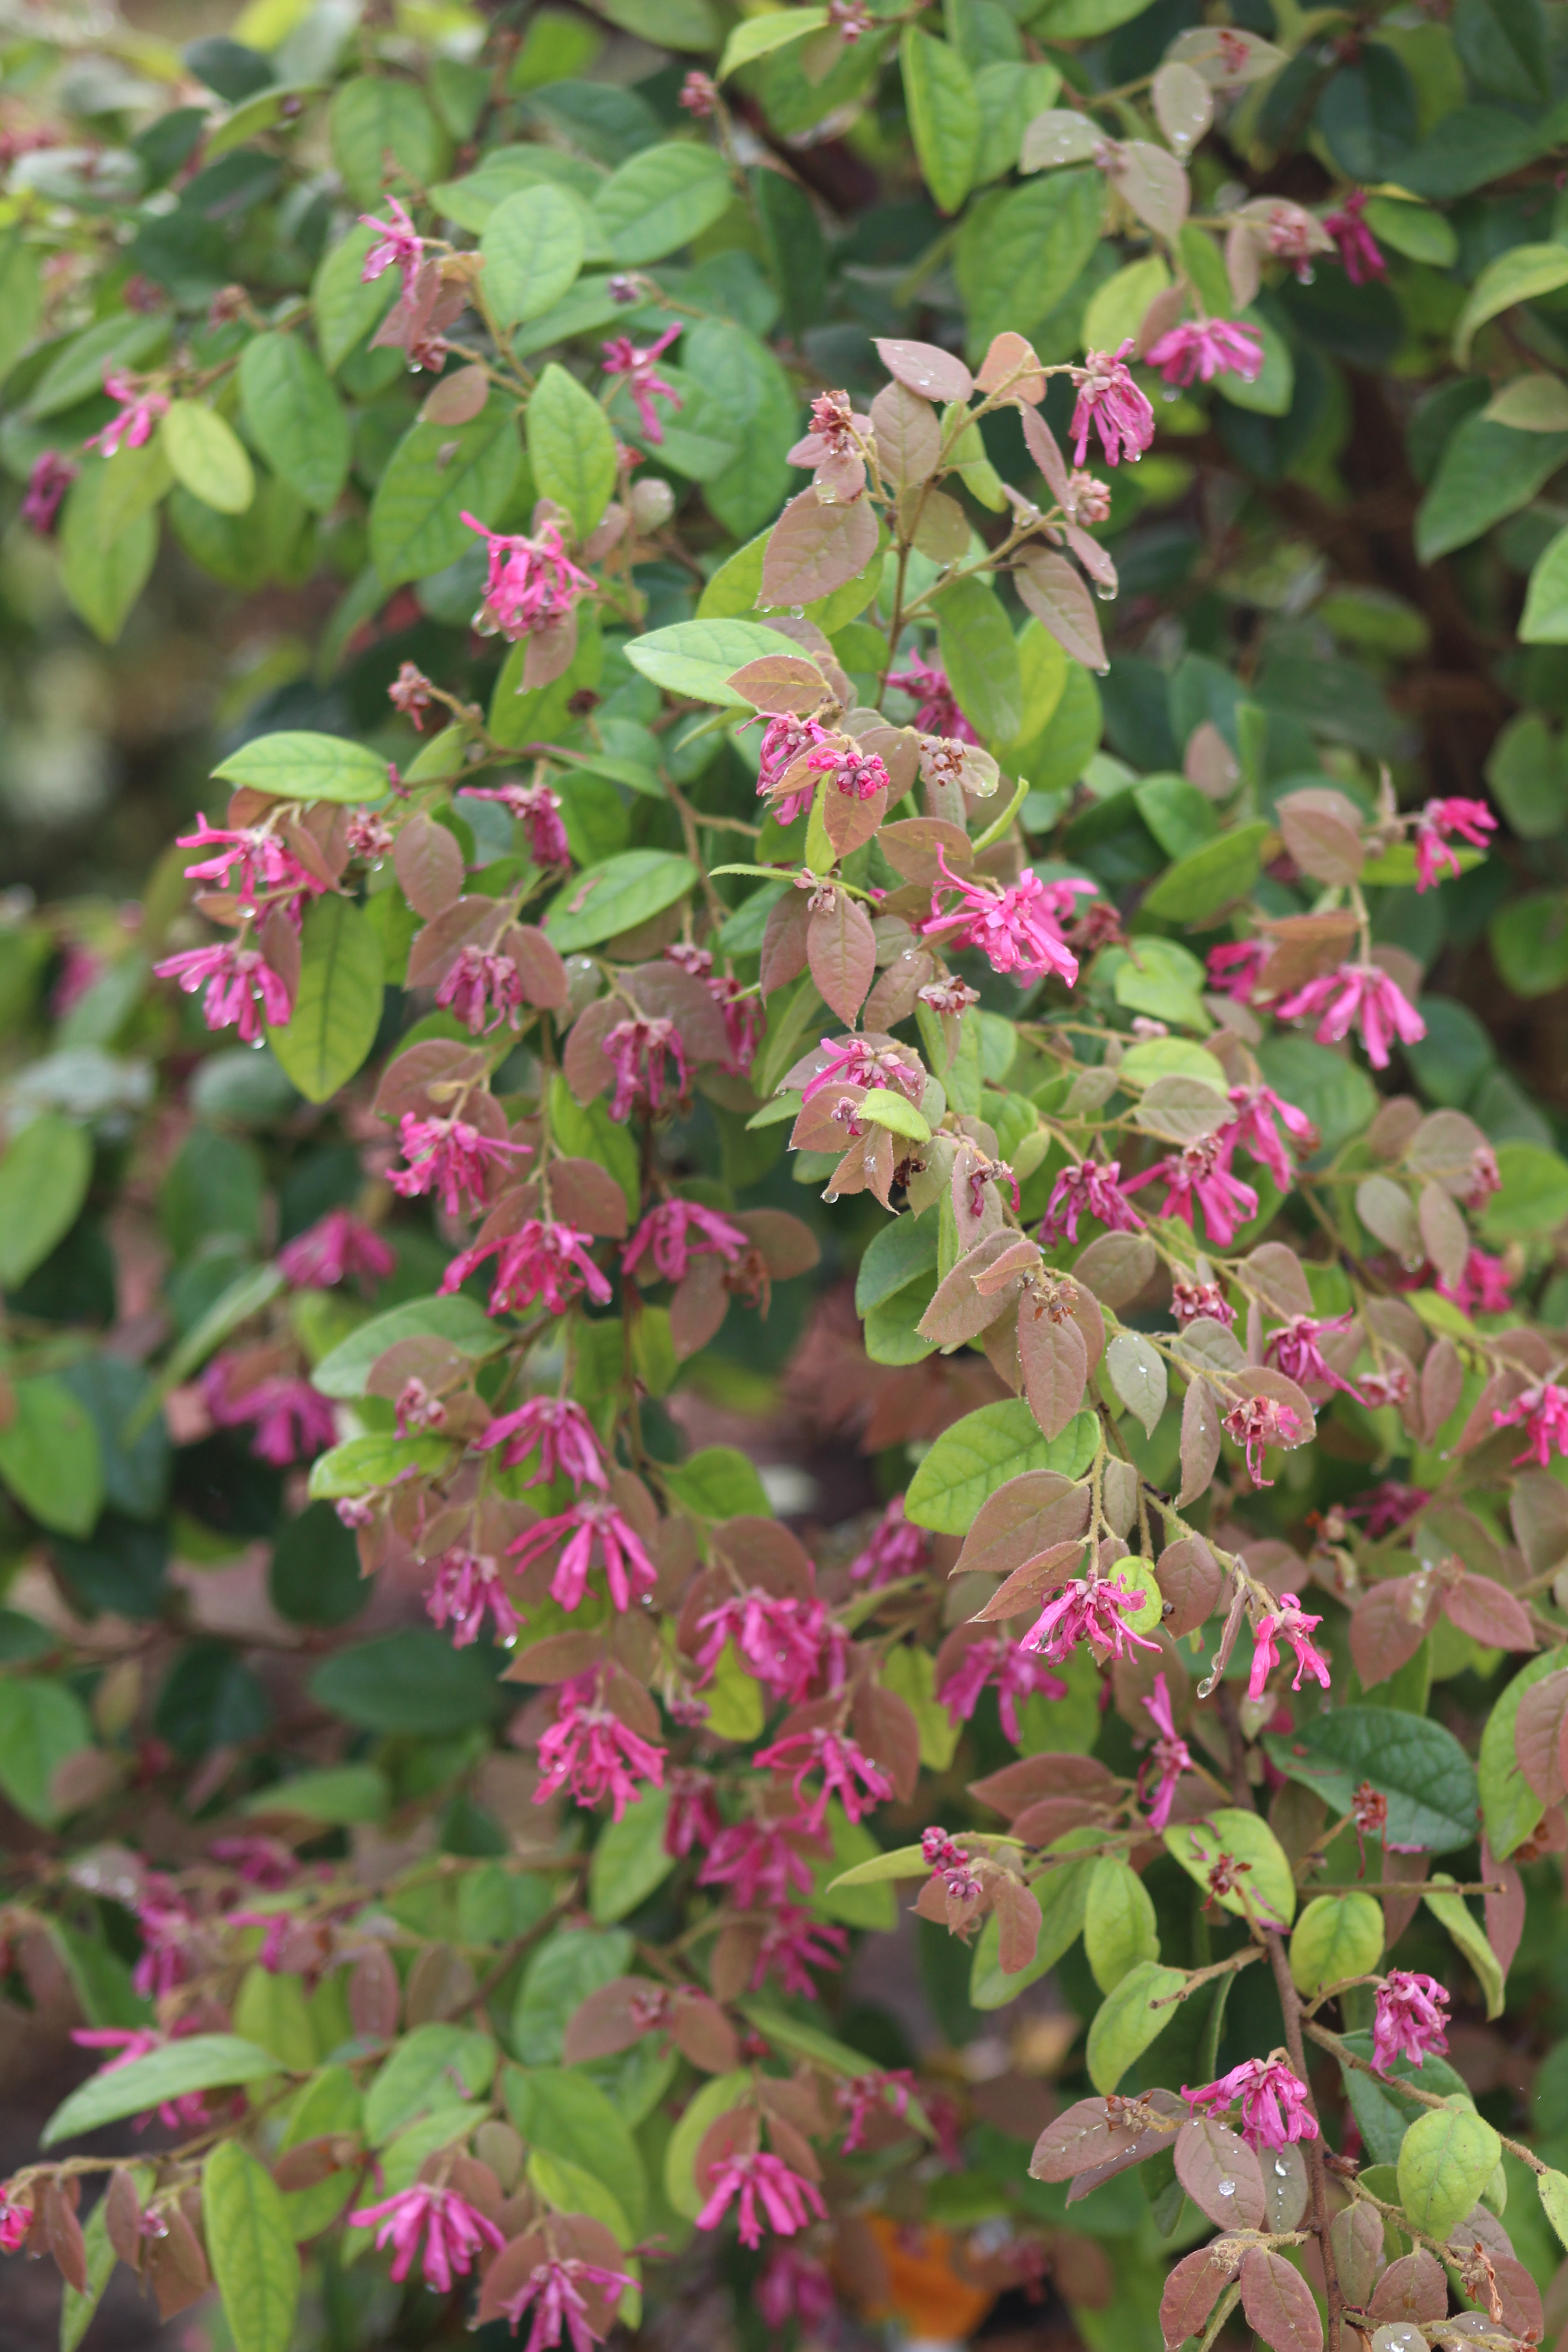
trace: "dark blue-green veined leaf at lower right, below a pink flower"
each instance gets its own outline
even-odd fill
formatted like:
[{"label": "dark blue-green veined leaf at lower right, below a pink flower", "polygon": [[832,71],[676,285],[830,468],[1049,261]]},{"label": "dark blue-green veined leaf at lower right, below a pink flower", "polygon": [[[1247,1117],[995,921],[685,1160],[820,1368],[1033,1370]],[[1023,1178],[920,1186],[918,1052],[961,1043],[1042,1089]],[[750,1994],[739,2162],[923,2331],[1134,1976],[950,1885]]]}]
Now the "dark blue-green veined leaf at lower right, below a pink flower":
[{"label": "dark blue-green veined leaf at lower right, below a pink flower", "polygon": [[1265,1740],[1291,1780],[1349,1813],[1363,1780],[1389,1802],[1396,1846],[1455,1853],[1476,1835],[1476,1769],[1453,1731],[1399,1708],[1333,1708],[1298,1731]]}]

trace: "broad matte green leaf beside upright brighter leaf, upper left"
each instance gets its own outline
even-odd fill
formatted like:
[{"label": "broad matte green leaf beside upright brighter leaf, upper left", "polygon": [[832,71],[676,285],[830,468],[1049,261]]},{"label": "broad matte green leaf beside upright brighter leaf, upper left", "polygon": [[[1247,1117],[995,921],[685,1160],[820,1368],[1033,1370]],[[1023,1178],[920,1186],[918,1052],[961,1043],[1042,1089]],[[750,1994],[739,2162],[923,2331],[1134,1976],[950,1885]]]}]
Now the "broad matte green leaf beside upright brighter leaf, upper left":
[{"label": "broad matte green leaf beside upright brighter leaf, upper left", "polygon": [[409,426],[369,510],[369,550],[383,590],[444,572],[477,546],[463,513],[494,524],[520,466],[505,400],[491,397],[465,426]]}]

